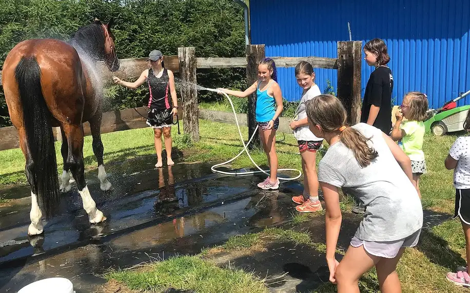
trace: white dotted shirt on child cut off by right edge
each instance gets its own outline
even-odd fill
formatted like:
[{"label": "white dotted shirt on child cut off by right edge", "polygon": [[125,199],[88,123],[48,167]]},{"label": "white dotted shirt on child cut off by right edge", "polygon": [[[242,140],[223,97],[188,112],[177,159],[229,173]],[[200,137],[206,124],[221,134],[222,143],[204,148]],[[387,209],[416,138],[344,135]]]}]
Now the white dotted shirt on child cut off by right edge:
[{"label": "white dotted shirt on child cut off by right edge", "polygon": [[457,138],[449,155],[458,161],[454,170],[454,187],[456,189],[470,189],[470,137]]}]

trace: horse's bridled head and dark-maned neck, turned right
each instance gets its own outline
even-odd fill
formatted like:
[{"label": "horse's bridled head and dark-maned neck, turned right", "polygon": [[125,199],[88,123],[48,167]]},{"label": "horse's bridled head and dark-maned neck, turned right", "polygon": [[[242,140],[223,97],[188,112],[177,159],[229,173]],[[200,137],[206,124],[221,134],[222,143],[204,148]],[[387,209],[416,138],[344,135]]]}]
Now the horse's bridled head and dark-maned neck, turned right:
[{"label": "horse's bridled head and dark-maned neck, turned right", "polygon": [[111,19],[109,23],[103,24],[101,20],[95,19],[93,23],[74,33],[70,44],[91,61],[104,61],[108,69],[114,72],[119,70],[119,59],[111,32],[113,22]]}]

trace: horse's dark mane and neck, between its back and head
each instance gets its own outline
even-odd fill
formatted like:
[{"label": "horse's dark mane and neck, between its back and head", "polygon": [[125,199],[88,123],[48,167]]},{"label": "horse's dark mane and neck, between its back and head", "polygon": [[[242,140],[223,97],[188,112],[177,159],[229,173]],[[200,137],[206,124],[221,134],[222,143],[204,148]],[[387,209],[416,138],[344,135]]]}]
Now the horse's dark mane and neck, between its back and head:
[{"label": "horse's dark mane and neck, between its back and head", "polygon": [[84,53],[93,61],[103,60],[105,54],[105,36],[103,34],[103,25],[99,20],[81,27],[72,34],[69,44],[79,53]]}]

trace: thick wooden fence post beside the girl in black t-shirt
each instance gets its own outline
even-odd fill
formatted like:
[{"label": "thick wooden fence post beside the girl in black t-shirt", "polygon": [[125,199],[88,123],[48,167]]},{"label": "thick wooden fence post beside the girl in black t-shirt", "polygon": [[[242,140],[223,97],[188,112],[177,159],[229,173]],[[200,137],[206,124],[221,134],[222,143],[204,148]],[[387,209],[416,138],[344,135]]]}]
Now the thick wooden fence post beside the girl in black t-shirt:
[{"label": "thick wooden fence post beside the girl in black t-shirt", "polygon": [[338,42],[338,98],[351,125],[361,120],[361,60],[362,41]]}]

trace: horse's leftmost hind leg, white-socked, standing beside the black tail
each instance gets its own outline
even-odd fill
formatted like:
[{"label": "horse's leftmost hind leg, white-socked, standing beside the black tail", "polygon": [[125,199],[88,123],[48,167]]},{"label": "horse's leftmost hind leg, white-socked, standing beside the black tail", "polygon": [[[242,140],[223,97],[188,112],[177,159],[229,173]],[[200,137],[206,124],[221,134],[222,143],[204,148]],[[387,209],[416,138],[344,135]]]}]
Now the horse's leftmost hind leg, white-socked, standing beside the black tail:
[{"label": "horse's leftmost hind leg, white-socked, standing beside the black tail", "polygon": [[29,212],[29,218],[31,219],[31,224],[28,227],[28,235],[38,235],[42,234],[44,230],[43,223],[41,218],[43,214],[41,209],[37,204],[37,184],[36,179],[34,178],[33,168],[34,162],[29,153],[27,143],[26,143],[26,134],[24,129],[18,129],[19,134],[19,147],[23,151],[26,159],[25,172],[26,178],[28,179],[29,186],[31,187],[31,211]]}]

